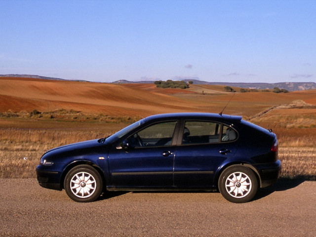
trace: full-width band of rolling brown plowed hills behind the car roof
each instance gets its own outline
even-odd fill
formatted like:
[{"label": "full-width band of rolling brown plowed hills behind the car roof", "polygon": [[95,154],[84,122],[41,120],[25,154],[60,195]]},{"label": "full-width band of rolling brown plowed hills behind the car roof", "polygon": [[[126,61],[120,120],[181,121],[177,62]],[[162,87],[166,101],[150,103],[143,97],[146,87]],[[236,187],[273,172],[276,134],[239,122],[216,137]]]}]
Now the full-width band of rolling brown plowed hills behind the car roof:
[{"label": "full-width band of rolling brown plowed hills behind the car roof", "polygon": [[[239,90],[237,90],[239,91]],[[37,78],[0,77],[0,113],[50,112],[60,109],[109,116],[145,117],[171,112],[224,113],[254,116],[294,100],[316,104],[316,90],[226,92],[223,85],[193,84],[188,89],[157,88],[144,83],[97,83]]]}]

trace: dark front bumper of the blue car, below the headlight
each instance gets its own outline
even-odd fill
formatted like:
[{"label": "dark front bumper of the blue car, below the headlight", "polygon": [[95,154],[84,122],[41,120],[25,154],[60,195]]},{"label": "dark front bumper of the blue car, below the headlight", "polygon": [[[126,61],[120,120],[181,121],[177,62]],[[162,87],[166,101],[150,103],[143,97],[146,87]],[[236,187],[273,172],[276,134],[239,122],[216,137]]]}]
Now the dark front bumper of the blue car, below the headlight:
[{"label": "dark front bumper of the blue car, below the headlight", "polygon": [[60,172],[43,170],[42,165],[36,167],[38,182],[41,187],[54,190],[62,190],[60,184]]}]

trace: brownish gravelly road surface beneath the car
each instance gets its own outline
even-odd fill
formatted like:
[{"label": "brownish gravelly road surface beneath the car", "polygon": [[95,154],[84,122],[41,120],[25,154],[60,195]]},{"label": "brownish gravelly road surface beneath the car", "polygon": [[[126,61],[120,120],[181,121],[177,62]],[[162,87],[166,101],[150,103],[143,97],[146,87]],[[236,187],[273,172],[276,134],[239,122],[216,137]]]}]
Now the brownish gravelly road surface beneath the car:
[{"label": "brownish gravelly road surface beneath the car", "polygon": [[243,204],[206,192],[112,192],[77,203],[36,179],[0,182],[0,236],[316,236],[312,181],[281,180]]}]

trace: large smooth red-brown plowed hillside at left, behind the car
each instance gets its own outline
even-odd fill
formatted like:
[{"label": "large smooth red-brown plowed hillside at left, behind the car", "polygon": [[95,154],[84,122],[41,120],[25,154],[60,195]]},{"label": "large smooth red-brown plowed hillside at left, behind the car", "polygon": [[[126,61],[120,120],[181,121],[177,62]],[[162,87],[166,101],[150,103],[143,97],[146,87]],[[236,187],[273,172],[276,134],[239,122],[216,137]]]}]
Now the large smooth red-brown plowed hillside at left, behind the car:
[{"label": "large smooth red-brown plowed hillside at left, behind the car", "polygon": [[[145,86],[146,87],[146,86]],[[196,111],[197,103],[131,85],[55,81],[38,79],[0,79],[0,112],[12,110],[77,110],[112,116],[148,116],[165,112]]]}]

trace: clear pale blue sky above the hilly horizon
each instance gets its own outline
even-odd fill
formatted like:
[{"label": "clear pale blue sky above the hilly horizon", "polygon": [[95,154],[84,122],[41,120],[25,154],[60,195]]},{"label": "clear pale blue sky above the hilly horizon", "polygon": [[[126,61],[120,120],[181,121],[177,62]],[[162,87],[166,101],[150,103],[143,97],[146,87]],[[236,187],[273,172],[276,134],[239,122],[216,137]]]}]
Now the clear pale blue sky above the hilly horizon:
[{"label": "clear pale blue sky above the hilly horizon", "polygon": [[316,0],[0,0],[0,74],[316,82]]}]

